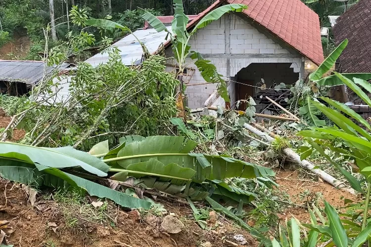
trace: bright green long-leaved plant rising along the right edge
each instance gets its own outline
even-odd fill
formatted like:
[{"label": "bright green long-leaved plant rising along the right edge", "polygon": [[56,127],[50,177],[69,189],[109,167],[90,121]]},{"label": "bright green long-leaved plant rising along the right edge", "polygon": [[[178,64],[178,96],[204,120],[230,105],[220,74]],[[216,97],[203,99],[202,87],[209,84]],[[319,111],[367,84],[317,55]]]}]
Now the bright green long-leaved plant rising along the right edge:
[{"label": "bright green long-leaved plant rising along the right edge", "polygon": [[[371,85],[369,82],[360,78],[353,78],[353,80],[350,80],[343,74],[336,72],[334,72],[334,76],[352,89],[367,105],[371,107],[371,99],[366,93],[371,93]],[[361,236],[361,240],[364,240],[364,234],[366,234],[364,231],[370,233],[371,228],[370,224],[368,224],[368,211],[371,193],[371,126],[365,119],[362,118],[362,116],[357,114],[348,106],[345,106],[344,104],[341,104],[330,98],[321,97],[321,99],[326,102],[329,107],[315,101],[312,101],[311,104],[313,104],[313,106],[315,106],[328,119],[330,119],[334,125],[312,127],[309,130],[303,130],[298,133],[298,135],[306,137],[306,140],[313,148],[311,150],[307,150],[302,159],[312,155],[314,151],[320,153],[331,165],[336,167],[345,176],[353,189],[363,193],[366,196],[363,222],[362,227],[360,228],[362,235],[361,233],[358,235]],[[362,125],[363,127],[361,127]],[[349,157],[349,159],[354,162],[354,164],[357,166],[355,172],[358,171],[361,175],[363,175],[363,181],[366,181],[367,183],[366,192],[362,189],[361,182],[349,171],[337,164],[328,155],[328,153],[325,152],[326,150],[333,152],[338,157]],[[355,241],[355,243],[358,242]]]}]

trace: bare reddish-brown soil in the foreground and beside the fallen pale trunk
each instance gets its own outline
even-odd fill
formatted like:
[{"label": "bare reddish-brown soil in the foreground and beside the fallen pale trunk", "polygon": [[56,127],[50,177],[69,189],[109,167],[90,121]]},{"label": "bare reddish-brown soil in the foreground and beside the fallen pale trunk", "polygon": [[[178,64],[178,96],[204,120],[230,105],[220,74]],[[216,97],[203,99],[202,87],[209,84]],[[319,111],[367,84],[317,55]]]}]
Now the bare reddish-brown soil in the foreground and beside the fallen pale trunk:
[{"label": "bare reddish-brown soil in the foreground and beside the fallen pale trunk", "polygon": [[[298,177],[298,171],[279,170],[277,182],[279,190],[285,191],[296,205],[306,204],[300,194],[307,189],[313,193],[321,192],[325,200],[337,207],[344,206],[344,198],[357,200],[324,182],[302,179]],[[211,228],[206,231],[193,221],[189,206],[171,201],[160,203],[166,208],[165,215],[139,214],[137,210],[119,209],[108,203],[104,222],[85,220],[83,205],[79,209],[80,216],[73,216],[77,223],[71,226],[70,216],[66,214],[68,205],[38,194],[35,205],[31,206],[21,185],[0,180],[0,221],[9,221],[6,225],[12,228],[12,233],[8,243],[14,247],[197,247],[206,242],[213,247],[222,247],[233,246],[223,239],[235,243],[233,236],[236,235],[242,235],[246,240],[243,246],[259,245],[247,231],[222,216],[218,216],[215,223],[209,222]],[[79,211],[73,213],[79,214]],[[185,225],[178,234],[167,233],[161,225],[163,218],[172,213]],[[289,206],[278,216],[282,221],[295,216],[302,223],[309,222],[307,209],[298,206]]]}]

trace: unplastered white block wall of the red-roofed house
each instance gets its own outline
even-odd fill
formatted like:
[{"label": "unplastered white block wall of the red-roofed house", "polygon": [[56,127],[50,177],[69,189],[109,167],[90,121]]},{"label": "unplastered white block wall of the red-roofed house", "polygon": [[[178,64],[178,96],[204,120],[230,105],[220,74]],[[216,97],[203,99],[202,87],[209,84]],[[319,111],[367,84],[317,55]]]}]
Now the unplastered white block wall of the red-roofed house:
[{"label": "unplastered white block wall of the red-roofed house", "polygon": [[[225,16],[221,19],[214,21],[207,27],[197,31],[195,35],[189,40],[191,50],[203,54],[226,54],[226,38],[230,41],[231,54],[289,54],[289,51],[279,45],[277,42],[269,39],[259,30],[250,25],[250,23],[237,15],[231,14],[230,35],[226,37],[225,34]],[[171,48],[166,50],[166,56],[173,56]],[[215,56],[214,56],[215,57]],[[219,74],[225,76],[227,73],[227,58],[207,58],[217,67]],[[232,58],[230,59],[231,77],[234,77],[238,71],[247,67],[251,63],[293,63],[301,58]],[[169,61],[169,63],[171,63]],[[174,61],[172,64],[176,65]],[[190,64],[194,67],[194,64]],[[174,71],[172,66],[168,67],[168,71]],[[190,84],[204,83],[205,80],[200,75],[198,69],[191,78]],[[207,98],[216,90],[216,84],[204,84],[197,86],[188,86],[185,94],[188,98],[188,107],[191,109],[204,106]],[[235,102],[235,86],[231,83],[228,87],[231,97],[231,103]],[[218,101],[219,102],[219,101]],[[219,102],[220,103],[220,102]]]}]

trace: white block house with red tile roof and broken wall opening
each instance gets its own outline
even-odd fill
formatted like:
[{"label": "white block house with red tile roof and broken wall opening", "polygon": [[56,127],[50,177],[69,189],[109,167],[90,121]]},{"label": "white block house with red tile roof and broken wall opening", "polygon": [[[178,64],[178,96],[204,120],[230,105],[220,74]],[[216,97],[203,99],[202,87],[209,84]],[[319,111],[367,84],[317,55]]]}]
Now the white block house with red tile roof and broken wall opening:
[{"label": "white block house with red tile roof and broken wall opening", "polygon": [[[255,96],[263,87],[303,79],[306,59],[317,65],[323,62],[319,17],[301,0],[217,0],[192,18],[187,28],[191,29],[213,9],[229,3],[246,4],[248,8],[241,13],[225,14],[198,30],[189,44],[191,50],[211,60],[224,76],[231,104]],[[170,41],[165,47],[171,56]],[[169,69],[176,67],[176,61],[173,63]],[[188,107],[224,104],[216,93],[217,85],[205,84],[193,64],[189,65],[187,75]]]}]

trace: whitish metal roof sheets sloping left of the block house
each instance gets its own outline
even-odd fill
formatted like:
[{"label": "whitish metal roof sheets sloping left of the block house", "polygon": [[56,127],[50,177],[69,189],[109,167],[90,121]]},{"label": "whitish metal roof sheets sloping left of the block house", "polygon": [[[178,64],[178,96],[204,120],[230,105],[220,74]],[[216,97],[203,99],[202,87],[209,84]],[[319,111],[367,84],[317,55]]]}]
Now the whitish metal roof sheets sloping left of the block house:
[{"label": "whitish metal roof sheets sloping left of the block house", "polygon": [[[143,51],[134,36],[145,44],[150,53],[154,53],[161,43],[166,41],[165,38],[167,33],[165,31],[157,33],[154,29],[146,29],[137,30],[133,34],[124,37],[112,45],[120,50],[121,60],[125,65],[139,64],[141,61]],[[170,38],[168,38],[168,40],[170,40]],[[96,67],[98,64],[107,63],[108,59],[109,56],[107,51],[103,51],[103,53],[98,53],[85,62]]]}]

